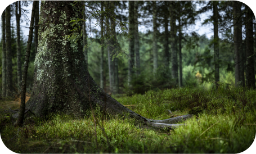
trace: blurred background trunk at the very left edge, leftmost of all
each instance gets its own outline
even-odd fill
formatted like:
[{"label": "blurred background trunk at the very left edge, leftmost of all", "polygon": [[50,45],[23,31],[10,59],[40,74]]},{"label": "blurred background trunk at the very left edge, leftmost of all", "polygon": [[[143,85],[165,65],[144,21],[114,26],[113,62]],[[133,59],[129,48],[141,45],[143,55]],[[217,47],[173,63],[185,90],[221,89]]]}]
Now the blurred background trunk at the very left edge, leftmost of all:
[{"label": "blurred background trunk at the very left edge, leftmost of all", "polygon": [[6,41],[5,41],[5,10],[2,16],[2,97],[6,97]]}]

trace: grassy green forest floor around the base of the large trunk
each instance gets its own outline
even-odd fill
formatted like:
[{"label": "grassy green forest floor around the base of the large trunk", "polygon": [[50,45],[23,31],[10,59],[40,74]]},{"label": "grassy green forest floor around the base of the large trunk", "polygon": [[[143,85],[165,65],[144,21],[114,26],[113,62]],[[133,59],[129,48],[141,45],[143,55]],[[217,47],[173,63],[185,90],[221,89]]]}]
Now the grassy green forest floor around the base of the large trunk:
[{"label": "grassy green forest floor around the base of the large trunk", "polygon": [[128,117],[102,116],[96,108],[97,126],[88,111],[82,119],[26,114],[18,128],[8,111],[19,108],[19,99],[1,99],[2,142],[15,153],[241,153],[255,139],[256,90],[186,87],[113,97],[150,119],[194,116],[185,126],[154,129]]}]

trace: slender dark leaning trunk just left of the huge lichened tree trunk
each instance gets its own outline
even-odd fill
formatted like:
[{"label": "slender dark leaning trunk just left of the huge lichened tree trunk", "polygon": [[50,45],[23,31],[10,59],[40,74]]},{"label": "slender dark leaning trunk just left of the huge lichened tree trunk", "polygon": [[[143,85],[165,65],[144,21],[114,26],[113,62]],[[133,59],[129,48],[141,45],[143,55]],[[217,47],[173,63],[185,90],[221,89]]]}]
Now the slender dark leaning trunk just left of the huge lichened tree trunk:
[{"label": "slender dark leaning trunk just left of the huge lichened tree trunk", "polygon": [[[33,39],[33,26],[34,26],[34,17],[35,17],[35,8],[37,7],[37,1],[34,0],[33,7],[32,7],[32,15],[31,15],[31,22],[29,27],[29,39],[28,39],[28,45],[26,47],[26,57],[25,57],[25,64],[24,64],[24,70],[22,75],[22,89],[21,89],[21,102],[20,102],[20,112],[19,117],[15,123],[15,125],[22,125],[24,114],[25,114],[25,99],[26,99],[26,75],[28,74],[28,67],[29,67],[29,55],[30,55],[30,49],[31,49],[31,43]],[[17,3],[16,3],[17,4]]]}]

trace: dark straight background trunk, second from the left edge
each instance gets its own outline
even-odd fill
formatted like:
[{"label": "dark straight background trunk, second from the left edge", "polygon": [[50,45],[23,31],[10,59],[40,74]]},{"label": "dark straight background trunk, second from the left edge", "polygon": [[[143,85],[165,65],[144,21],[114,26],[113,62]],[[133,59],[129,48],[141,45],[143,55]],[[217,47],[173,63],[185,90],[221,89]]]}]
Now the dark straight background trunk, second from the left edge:
[{"label": "dark straight background trunk, second from the left edge", "polygon": [[11,7],[6,7],[6,73],[7,73],[7,93],[6,96],[13,96],[14,87],[12,85],[12,51],[11,51]]}]

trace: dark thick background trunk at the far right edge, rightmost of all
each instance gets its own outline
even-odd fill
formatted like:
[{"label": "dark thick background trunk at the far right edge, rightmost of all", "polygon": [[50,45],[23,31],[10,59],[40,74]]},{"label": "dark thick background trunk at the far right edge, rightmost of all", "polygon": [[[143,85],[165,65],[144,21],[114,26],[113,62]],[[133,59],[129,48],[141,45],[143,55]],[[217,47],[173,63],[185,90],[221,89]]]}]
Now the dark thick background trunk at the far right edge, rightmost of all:
[{"label": "dark thick background trunk at the far right edge, rightmost of all", "polygon": [[254,56],[253,56],[253,16],[254,13],[249,6],[246,5],[246,80],[248,80],[248,88],[255,89],[255,73],[254,73]]}]

